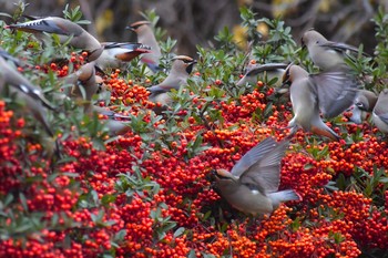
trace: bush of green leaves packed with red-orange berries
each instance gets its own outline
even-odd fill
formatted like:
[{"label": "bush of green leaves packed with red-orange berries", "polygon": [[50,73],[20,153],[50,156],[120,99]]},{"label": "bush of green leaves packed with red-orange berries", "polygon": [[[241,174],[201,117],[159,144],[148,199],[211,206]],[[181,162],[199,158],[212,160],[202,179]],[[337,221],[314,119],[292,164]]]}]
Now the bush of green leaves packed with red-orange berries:
[{"label": "bush of green leaves packed with red-orange berries", "polygon": [[[256,62],[294,61],[316,71],[282,20],[241,11],[248,33],[257,33],[258,23],[269,29],[267,40],[254,39]],[[64,13],[81,18],[78,10]],[[380,11],[375,22],[376,56],[360,54],[348,63],[360,79],[369,78],[365,87],[379,91],[387,76],[387,14]],[[270,216],[247,217],[215,192],[212,169],[231,168],[268,136],[280,141],[293,116],[288,96],[277,95],[273,82],[235,86],[249,60],[227,29],[216,35],[214,49],[197,47],[188,85],[172,93],[176,103],[163,116],[152,111],[146,87],[164,72],[146,75],[137,61],[126,71],[108,71],[111,93],[100,105],[131,116],[131,131],[116,137],[108,136],[103,117],[55,100],[61,78],[84,62],[82,54],[55,37],[42,48],[29,33],[0,33],[1,47],[28,64],[19,70],[61,109],[48,118],[62,153],[52,155],[53,140],[41,125],[12,97],[2,97],[0,257],[388,255],[388,148],[368,121],[329,121],[339,142],[299,131],[282,162],[280,188],[296,189],[303,200]],[[175,41],[161,43],[169,69]]]}]

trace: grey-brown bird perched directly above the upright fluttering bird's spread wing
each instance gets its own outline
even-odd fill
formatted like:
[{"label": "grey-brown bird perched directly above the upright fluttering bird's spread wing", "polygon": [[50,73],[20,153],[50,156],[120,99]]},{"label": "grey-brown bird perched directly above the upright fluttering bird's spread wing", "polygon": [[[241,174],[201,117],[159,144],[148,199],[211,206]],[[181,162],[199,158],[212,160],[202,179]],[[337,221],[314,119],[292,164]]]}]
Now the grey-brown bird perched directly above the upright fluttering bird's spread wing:
[{"label": "grey-brown bird perched directly above the upright fluttering bird's spread wing", "polygon": [[344,60],[346,54],[349,52],[358,53],[357,48],[340,42],[328,41],[314,29],[306,31],[300,41],[302,47],[307,48],[313,63],[323,71],[338,66],[346,68],[347,64]]}]

